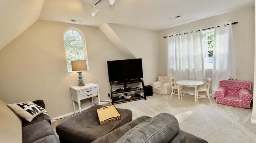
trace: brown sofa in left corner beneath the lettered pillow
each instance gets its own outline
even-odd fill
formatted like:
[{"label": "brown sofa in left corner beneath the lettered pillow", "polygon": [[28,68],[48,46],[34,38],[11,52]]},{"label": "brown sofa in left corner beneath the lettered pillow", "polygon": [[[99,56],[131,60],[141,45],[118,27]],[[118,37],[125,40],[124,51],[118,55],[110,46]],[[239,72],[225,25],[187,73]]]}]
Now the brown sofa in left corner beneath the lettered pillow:
[{"label": "brown sofa in left corner beneath the lettered pillow", "polygon": [[[34,101],[44,108],[44,101]],[[31,122],[17,116],[0,100],[0,143],[59,143],[48,115],[40,114]]]}]

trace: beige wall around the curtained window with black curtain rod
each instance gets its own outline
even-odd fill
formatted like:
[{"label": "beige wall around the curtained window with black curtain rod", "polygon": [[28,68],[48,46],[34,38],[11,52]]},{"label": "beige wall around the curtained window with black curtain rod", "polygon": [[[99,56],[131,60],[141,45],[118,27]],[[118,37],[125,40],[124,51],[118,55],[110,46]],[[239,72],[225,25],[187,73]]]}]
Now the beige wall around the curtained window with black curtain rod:
[{"label": "beige wall around the curtained window with black curtain rod", "polygon": [[250,81],[253,85],[254,6],[158,31],[159,74],[167,75],[167,39],[163,38],[164,36],[205,29],[214,25],[223,26],[229,22],[239,22],[232,25],[237,79]]}]

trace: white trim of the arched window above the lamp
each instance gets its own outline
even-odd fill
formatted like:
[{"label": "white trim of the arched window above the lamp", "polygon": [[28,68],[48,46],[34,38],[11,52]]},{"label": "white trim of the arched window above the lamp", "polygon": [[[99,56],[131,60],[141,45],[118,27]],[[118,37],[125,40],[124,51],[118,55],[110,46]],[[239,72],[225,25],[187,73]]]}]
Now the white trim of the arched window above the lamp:
[{"label": "white trim of the arched window above the lamp", "polygon": [[[82,37],[82,43],[83,43],[83,51],[84,51],[84,60],[86,60],[86,65],[87,65],[87,70],[89,69],[89,64],[88,64],[88,56],[87,56],[87,49],[86,49],[86,42],[85,42],[85,37],[84,37],[84,33],[76,28],[76,27],[69,27],[67,28],[64,33],[63,33],[63,43],[64,43],[64,50],[65,50],[65,58],[66,58],[66,63],[67,63],[67,55],[66,55],[66,47],[65,47],[65,40],[64,40],[64,34],[67,32],[67,31],[70,31],[70,30],[74,30],[76,32],[78,32],[80,34],[80,36]],[[75,60],[74,60],[75,61]],[[68,69],[68,65],[67,66],[67,69]],[[72,72],[68,70],[68,72]]]}]

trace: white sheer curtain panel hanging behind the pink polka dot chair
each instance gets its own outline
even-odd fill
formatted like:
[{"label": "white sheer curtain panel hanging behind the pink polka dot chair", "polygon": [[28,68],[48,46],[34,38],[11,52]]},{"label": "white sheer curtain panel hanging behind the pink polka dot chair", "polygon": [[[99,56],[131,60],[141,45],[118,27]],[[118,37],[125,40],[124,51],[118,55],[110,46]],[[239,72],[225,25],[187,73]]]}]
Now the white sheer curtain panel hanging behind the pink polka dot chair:
[{"label": "white sheer curtain panel hanging behind the pink polka dot chair", "polygon": [[226,27],[214,27],[214,63],[212,71],[212,93],[219,82],[236,78],[236,63],[231,22]]}]

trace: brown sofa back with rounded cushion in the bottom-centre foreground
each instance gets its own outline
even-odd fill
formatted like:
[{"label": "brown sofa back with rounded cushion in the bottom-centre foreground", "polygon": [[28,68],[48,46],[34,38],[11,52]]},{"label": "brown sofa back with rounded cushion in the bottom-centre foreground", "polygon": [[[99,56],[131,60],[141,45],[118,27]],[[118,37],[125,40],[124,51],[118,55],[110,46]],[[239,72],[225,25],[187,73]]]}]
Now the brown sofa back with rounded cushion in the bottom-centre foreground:
[{"label": "brown sofa back with rounded cushion in the bottom-centre foreground", "polygon": [[141,116],[92,143],[208,143],[180,130],[178,120],[161,113],[151,118]]}]

